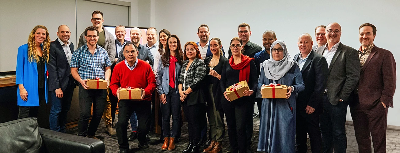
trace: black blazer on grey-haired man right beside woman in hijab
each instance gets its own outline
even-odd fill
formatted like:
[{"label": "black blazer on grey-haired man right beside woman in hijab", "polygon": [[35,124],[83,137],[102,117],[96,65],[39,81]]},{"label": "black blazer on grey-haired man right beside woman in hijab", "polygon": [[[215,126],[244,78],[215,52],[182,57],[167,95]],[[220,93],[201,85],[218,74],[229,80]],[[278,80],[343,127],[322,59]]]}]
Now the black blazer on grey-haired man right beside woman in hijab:
[{"label": "black blazer on grey-haired man right beside woman in hijab", "polygon": [[[300,53],[294,56],[298,60]],[[320,113],[322,109],[322,98],[328,80],[328,63],[324,56],[316,54],[314,50],[310,52],[301,70],[305,89],[296,93],[296,108],[298,112],[305,111],[307,105],[315,109],[314,112]]]}]

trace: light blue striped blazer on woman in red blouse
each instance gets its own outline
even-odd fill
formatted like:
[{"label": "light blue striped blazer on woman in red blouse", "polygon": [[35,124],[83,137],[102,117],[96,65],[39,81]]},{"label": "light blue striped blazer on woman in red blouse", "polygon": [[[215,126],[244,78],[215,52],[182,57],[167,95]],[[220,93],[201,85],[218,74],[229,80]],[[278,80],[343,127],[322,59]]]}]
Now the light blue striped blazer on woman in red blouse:
[{"label": "light blue striped blazer on woman in red blouse", "polygon": [[[175,64],[175,91],[176,94],[179,94],[179,90],[178,90],[178,79],[179,79],[179,75],[180,75],[180,70],[181,70],[182,65],[179,64],[178,62],[176,62]],[[166,94],[168,95],[170,89],[170,69],[168,66],[164,66],[161,62],[161,58],[160,58],[160,62],[158,64],[158,71],[156,74],[156,81],[157,81],[157,90],[158,90],[158,95],[162,95],[162,94]]]}]

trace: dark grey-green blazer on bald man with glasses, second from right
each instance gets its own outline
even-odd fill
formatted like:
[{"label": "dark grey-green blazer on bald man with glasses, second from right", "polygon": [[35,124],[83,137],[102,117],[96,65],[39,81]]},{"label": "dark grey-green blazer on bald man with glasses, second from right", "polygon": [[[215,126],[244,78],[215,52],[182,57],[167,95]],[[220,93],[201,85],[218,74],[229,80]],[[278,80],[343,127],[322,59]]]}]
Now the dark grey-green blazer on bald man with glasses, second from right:
[{"label": "dark grey-green blazer on bald man with glasses, second from right", "polygon": [[[325,46],[318,47],[315,52],[323,55]],[[356,87],[358,79],[360,79],[361,68],[358,51],[340,42],[328,66],[326,92],[328,93],[329,102],[332,105],[337,105],[339,99],[348,100],[350,93]]]}]

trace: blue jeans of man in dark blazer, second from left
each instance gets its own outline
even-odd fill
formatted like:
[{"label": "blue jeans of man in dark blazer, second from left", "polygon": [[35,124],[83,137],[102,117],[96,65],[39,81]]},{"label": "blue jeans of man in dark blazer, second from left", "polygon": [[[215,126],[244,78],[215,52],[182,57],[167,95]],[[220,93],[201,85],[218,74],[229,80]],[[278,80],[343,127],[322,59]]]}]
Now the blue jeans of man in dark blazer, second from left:
[{"label": "blue jeans of man in dark blazer, second from left", "polygon": [[65,123],[67,121],[67,113],[71,107],[72,95],[74,94],[74,87],[67,87],[63,91],[63,97],[58,98],[56,92],[49,91],[49,99],[51,100],[50,109],[50,129],[65,133]]}]

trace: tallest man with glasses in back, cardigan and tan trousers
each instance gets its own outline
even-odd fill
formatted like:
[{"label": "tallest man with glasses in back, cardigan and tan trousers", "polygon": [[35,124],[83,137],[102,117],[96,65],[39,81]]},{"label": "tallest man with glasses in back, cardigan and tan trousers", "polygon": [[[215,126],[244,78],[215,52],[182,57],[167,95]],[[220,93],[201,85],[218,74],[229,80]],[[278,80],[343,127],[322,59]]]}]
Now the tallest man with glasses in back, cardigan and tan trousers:
[{"label": "tallest man with glasses in back, cardigan and tan trousers", "polygon": [[[111,64],[115,62],[115,40],[114,36],[103,27],[103,13],[96,10],[92,13],[93,26],[98,30],[98,41],[97,45],[104,48],[110,58]],[[80,35],[78,48],[86,44],[86,39],[84,33]],[[106,133],[110,136],[116,136],[117,133],[112,129],[112,117],[111,117],[111,101],[109,97],[109,89],[107,89],[107,102],[104,106],[104,123],[106,124]]]}]

